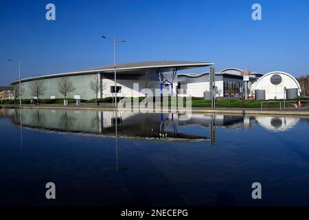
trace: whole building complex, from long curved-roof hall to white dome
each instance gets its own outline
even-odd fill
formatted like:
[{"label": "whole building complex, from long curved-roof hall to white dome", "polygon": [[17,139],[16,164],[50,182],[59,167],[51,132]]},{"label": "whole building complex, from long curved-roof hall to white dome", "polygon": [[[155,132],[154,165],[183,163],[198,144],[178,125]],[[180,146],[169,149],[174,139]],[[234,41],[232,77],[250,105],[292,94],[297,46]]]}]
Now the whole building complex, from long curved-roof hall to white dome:
[{"label": "whole building complex, from long curved-roof hall to white dome", "polygon": [[[209,67],[214,63],[188,62],[188,61],[153,61],[140,63],[127,63],[117,65],[117,87],[115,88],[115,76],[113,66],[82,69],[74,72],[36,76],[21,80],[23,94],[22,98],[34,98],[30,92],[30,85],[38,79],[43,79],[45,93],[40,98],[63,98],[58,91],[58,82],[62,77],[68,77],[76,90],[68,98],[79,96],[81,99],[89,100],[95,98],[89,84],[93,80],[99,80],[102,85],[98,92],[98,98],[117,97],[139,97],[153,96],[194,96],[203,97],[209,88],[209,72],[202,74],[181,73],[187,69]],[[301,92],[297,80],[290,74],[284,72],[271,72],[261,74],[250,72],[247,82],[244,81],[244,69],[227,68],[216,73],[216,96],[218,98],[244,98],[245,92],[251,99],[283,99],[296,98]],[[15,81],[12,85],[19,83]],[[138,87],[135,85],[139,83]],[[247,86],[247,89],[246,89]],[[159,91],[159,94],[158,94]]]}]

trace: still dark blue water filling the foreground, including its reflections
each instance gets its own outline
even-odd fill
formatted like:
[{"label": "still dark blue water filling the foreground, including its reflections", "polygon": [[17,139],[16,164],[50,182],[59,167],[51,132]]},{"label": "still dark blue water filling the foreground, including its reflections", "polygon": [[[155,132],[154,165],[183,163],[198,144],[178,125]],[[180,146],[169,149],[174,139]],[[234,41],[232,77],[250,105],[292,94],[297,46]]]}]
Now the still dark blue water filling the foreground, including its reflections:
[{"label": "still dark blue water filling the foreground, including its reflections", "polygon": [[0,109],[0,140],[2,206],[309,206],[308,118]]}]

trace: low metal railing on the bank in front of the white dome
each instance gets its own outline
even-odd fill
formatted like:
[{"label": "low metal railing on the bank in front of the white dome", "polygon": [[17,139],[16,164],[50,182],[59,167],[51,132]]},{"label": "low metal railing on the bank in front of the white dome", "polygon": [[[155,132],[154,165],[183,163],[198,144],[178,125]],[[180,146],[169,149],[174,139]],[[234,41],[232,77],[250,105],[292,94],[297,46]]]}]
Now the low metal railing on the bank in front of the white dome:
[{"label": "low metal railing on the bank in front of the white dome", "polygon": [[309,108],[309,100],[294,100],[294,101],[262,101],[261,110],[263,109],[304,109]]}]

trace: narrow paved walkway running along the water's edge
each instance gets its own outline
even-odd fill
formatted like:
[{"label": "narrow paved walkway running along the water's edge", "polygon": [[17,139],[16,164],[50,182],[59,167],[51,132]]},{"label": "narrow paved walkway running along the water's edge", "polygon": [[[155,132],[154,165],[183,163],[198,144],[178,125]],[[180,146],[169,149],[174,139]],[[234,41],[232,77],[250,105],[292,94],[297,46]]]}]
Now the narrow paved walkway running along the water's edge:
[{"label": "narrow paved walkway running along the water's edge", "polygon": [[[68,106],[63,106],[62,104],[23,104],[21,107],[19,105],[10,105],[3,104],[0,105],[0,108],[12,108],[12,109],[71,109],[71,110],[95,110],[95,111],[115,111],[115,107],[113,107],[112,103],[100,103],[100,106],[97,107],[96,104],[81,104],[80,106],[76,106],[75,104],[70,104]],[[130,109],[117,109],[117,111],[131,111]],[[148,109],[139,109],[133,111],[141,111],[141,112],[152,112]],[[156,111],[157,112],[157,111]],[[177,109],[161,109],[159,112],[172,112],[177,113]],[[242,108],[192,108],[192,113],[225,113],[225,114],[242,114],[242,115],[308,115],[309,109],[242,109]]]}]

